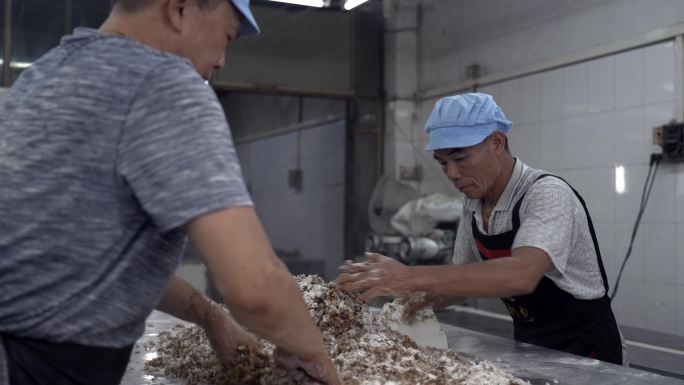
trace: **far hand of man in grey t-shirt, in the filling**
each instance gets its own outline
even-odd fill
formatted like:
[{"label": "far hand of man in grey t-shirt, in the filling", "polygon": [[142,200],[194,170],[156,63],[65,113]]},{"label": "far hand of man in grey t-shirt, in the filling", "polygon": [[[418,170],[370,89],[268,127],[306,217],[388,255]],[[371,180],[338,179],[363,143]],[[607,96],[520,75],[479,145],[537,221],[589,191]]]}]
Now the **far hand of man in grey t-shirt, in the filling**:
[{"label": "far hand of man in grey t-shirt, in the filling", "polygon": [[235,322],[226,309],[217,304],[212,306],[205,324],[205,332],[214,353],[225,368],[235,364],[239,346],[246,346],[253,351],[260,350],[254,336]]}]

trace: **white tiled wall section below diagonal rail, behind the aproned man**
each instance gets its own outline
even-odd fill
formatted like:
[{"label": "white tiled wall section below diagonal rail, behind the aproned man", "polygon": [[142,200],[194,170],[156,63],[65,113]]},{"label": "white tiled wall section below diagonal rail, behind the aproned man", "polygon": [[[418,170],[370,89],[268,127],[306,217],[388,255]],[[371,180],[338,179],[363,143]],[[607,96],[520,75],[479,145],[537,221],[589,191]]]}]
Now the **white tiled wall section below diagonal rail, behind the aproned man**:
[{"label": "white tiled wall section below diagonal rail, behind the aproned man", "polygon": [[[490,87],[514,126],[511,149],[566,178],[596,223],[611,287],[636,218],[651,129],[674,118],[674,44],[649,46]],[[615,166],[626,192],[615,191]],[[614,302],[618,322],[684,335],[684,165],[658,170]]]}]

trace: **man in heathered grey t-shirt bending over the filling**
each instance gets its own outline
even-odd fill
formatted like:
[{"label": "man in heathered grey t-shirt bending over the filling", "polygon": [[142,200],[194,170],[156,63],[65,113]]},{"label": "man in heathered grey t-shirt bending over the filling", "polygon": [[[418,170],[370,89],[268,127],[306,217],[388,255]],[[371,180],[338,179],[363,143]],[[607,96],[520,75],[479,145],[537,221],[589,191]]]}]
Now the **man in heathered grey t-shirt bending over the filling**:
[{"label": "man in heathered grey t-shirt bending over the filling", "polygon": [[[223,363],[255,345],[338,383],[205,84],[248,0],[114,0],[17,79],[0,122],[0,385],[116,384],[153,308]],[[186,233],[230,313],[173,277]],[[237,322],[236,322],[237,321]]]}]

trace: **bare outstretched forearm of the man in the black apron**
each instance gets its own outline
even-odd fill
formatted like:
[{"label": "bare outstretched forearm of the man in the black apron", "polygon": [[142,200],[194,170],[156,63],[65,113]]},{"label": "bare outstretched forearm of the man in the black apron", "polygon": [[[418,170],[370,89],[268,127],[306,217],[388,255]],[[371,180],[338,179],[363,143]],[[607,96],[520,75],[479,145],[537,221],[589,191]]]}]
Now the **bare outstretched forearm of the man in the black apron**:
[{"label": "bare outstretched forearm of the man in the black apron", "polygon": [[415,291],[445,298],[509,297],[529,294],[538,279],[517,259],[500,258],[482,263],[417,266]]}]

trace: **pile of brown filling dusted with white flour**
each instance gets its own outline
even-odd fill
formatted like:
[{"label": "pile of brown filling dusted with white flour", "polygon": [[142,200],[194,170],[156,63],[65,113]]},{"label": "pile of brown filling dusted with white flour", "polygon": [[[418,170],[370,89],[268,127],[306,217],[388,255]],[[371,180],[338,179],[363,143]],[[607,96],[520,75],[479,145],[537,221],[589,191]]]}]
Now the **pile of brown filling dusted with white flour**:
[{"label": "pile of brown filling dusted with white flour", "polygon": [[[416,345],[335,282],[318,276],[296,278],[345,385],[527,384],[487,361],[473,362],[453,350]],[[238,364],[224,369],[201,328],[178,328],[159,334],[158,357],[148,361],[145,370],[197,385],[310,383],[301,372],[276,368],[273,346],[260,344],[260,352],[240,350]]]}]

